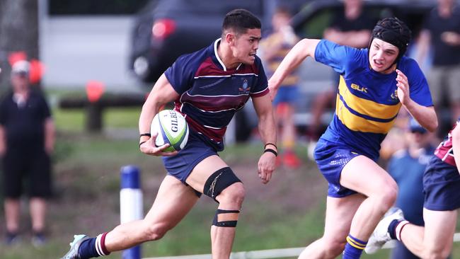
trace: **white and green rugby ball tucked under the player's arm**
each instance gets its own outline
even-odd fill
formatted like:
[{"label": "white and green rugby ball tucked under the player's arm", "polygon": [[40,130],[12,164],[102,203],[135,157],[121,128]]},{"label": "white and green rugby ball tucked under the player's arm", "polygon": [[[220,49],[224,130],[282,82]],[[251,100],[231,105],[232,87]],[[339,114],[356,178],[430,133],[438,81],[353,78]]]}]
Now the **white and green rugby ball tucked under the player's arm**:
[{"label": "white and green rugby ball tucked under the player's arm", "polygon": [[188,124],[185,117],[175,110],[161,110],[151,122],[151,134],[158,132],[155,146],[169,144],[165,152],[179,151],[188,141]]}]

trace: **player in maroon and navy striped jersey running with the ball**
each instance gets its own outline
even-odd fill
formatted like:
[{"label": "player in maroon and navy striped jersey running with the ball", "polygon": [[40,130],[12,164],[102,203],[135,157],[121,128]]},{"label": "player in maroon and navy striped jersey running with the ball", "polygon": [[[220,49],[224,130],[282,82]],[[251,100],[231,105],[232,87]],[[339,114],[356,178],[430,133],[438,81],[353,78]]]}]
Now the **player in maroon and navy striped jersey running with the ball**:
[{"label": "player in maroon and navy striped jersey running with the ball", "polygon": [[[241,180],[217,155],[224,149],[226,126],[237,110],[252,98],[259,117],[265,151],[258,175],[268,183],[275,169],[276,132],[268,82],[255,55],[261,33],[252,13],[236,9],[226,14],[222,38],[209,47],[179,57],[156,81],[139,117],[140,150],[163,156],[168,171],[146,217],[115,227],[96,238],[75,236],[64,258],[108,255],[139,243],[160,239],[179,223],[203,193],[219,203],[211,226],[212,258],[228,259],[244,198]],[[151,121],[160,108],[174,101],[190,127],[188,143],[167,153],[168,144],[156,147]]]}]

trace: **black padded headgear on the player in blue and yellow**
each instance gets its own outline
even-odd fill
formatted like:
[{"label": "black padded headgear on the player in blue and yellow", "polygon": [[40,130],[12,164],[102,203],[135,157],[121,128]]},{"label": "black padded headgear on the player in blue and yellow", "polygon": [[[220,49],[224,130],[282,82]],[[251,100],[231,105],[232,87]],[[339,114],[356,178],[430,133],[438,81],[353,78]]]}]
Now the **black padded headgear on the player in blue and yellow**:
[{"label": "black padded headgear on the player in blue and yellow", "polygon": [[399,54],[395,62],[398,62],[408,48],[411,32],[406,23],[396,17],[383,18],[377,22],[372,30],[372,38],[369,42],[369,48],[374,38],[388,42],[398,47]]}]

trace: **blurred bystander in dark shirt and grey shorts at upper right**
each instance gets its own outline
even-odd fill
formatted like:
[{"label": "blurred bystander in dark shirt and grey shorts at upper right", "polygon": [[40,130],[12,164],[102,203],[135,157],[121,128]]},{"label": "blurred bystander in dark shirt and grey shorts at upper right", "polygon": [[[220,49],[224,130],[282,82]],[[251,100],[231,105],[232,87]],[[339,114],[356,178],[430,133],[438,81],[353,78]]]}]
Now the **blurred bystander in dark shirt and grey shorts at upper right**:
[{"label": "blurred bystander in dark shirt and grey shorts at upper right", "polygon": [[451,120],[439,124],[447,125],[439,128],[442,137],[460,117],[460,6],[454,0],[438,0],[437,7],[425,21],[418,43],[419,64],[427,57],[430,47],[433,54],[427,79],[435,107],[438,109],[444,98],[449,101]]}]

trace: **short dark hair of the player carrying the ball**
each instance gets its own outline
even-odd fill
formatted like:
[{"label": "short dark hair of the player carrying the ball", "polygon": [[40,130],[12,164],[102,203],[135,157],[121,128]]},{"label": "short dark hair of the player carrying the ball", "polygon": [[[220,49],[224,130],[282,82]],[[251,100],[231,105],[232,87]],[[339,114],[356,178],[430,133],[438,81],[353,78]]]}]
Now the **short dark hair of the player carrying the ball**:
[{"label": "short dark hair of the player carrying the ball", "polygon": [[234,9],[229,11],[222,23],[222,36],[226,30],[232,29],[236,34],[244,34],[248,29],[260,29],[262,23],[259,18],[246,9]]}]

